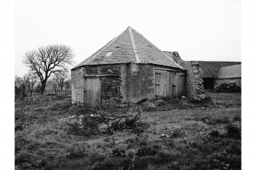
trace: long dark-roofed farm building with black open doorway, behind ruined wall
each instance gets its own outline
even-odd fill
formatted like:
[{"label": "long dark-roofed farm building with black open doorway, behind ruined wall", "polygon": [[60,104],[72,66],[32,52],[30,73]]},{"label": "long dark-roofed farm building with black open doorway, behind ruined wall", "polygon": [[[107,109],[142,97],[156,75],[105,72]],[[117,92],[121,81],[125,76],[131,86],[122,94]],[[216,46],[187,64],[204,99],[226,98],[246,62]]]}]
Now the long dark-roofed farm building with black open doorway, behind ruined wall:
[{"label": "long dark-roofed farm building with black open doorway, behind ruined wall", "polygon": [[241,64],[241,62],[220,62],[220,61],[198,61],[199,69],[203,77],[204,89],[212,90],[215,85],[215,79],[218,77],[219,70],[225,66]]}]

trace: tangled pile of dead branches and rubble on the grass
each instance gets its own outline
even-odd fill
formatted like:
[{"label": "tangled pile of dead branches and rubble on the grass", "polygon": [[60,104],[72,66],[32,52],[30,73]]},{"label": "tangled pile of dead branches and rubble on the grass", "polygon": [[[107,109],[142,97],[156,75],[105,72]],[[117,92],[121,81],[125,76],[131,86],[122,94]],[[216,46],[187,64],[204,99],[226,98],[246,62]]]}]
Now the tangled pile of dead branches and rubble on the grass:
[{"label": "tangled pile of dead branches and rubble on the grass", "polygon": [[138,124],[142,125],[141,112],[142,108],[138,106],[125,109],[110,106],[73,106],[70,108],[72,116],[61,119],[60,123],[76,135],[92,136],[138,127]]}]

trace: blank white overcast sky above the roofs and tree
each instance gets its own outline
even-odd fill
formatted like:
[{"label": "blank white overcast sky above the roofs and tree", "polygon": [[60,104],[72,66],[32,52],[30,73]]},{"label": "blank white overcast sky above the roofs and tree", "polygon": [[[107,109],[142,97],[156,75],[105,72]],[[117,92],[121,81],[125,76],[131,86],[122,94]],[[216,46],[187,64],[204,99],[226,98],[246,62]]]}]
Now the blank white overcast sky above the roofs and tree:
[{"label": "blank white overcast sky above the roofs and tree", "polygon": [[80,63],[128,26],[184,60],[241,61],[241,1],[15,1],[15,75],[29,50],[65,44]]}]

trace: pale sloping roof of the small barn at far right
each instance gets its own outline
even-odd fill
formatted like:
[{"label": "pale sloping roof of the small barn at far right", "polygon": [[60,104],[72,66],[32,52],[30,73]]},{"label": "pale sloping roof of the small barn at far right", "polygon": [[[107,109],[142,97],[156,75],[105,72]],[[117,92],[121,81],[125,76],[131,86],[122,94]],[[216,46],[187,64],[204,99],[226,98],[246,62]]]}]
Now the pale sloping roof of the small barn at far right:
[{"label": "pale sloping roof of the small barn at far right", "polygon": [[230,79],[241,77],[241,64],[234,66],[225,66],[219,70],[218,79]]}]

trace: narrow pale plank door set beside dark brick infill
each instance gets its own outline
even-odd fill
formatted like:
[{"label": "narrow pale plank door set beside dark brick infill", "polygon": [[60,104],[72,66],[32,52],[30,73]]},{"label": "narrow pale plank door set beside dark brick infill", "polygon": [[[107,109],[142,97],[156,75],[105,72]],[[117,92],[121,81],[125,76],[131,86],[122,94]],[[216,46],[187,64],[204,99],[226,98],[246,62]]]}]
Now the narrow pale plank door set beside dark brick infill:
[{"label": "narrow pale plank door set beside dark brick infill", "polygon": [[85,103],[96,106],[100,104],[100,79],[86,78],[85,79]]}]

